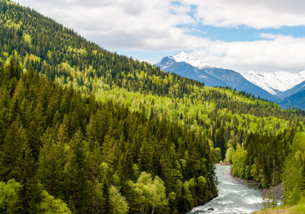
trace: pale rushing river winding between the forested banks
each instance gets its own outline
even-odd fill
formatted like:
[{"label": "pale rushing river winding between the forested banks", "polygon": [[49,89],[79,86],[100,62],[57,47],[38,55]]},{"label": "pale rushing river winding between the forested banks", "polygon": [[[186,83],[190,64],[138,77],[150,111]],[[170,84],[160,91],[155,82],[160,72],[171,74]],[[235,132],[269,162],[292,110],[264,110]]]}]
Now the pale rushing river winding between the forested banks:
[{"label": "pale rushing river winding between the forested banks", "polygon": [[[230,166],[217,166],[218,197],[188,214],[249,214],[263,208],[261,191],[251,184],[239,183],[230,174]],[[214,211],[208,211],[213,208]]]}]

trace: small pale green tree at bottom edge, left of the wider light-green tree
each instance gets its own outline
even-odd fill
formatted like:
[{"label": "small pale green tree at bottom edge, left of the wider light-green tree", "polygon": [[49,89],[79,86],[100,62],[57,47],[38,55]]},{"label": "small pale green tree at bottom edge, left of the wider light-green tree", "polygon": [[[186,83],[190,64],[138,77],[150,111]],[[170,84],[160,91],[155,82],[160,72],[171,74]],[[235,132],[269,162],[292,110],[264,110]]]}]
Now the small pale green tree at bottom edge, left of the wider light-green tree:
[{"label": "small pale green tree at bottom edge, left of the wider light-green tree", "polygon": [[109,189],[109,197],[110,197],[110,205],[111,205],[111,213],[113,214],[127,214],[128,213],[128,203],[126,198],[121,195],[119,189],[110,186]]}]

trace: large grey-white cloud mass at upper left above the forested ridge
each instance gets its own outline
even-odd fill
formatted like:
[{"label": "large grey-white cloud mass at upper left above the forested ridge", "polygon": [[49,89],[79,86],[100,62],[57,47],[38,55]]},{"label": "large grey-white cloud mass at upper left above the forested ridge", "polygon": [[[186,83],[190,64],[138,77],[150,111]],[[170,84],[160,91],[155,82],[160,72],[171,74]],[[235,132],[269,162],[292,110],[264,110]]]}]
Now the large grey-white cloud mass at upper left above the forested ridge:
[{"label": "large grey-white cloud mass at upper left above the forested ridge", "polygon": [[[195,23],[188,5],[168,0],[19,0],[103,47],[156,51],[194,48],[177,24]],[[89,6],[91,5],[91,6]],[[197,39],[193,37],[193,39]],[[204,40],[204,39],[199,39]],[[179,47],[179,48],[178,48]]]}]

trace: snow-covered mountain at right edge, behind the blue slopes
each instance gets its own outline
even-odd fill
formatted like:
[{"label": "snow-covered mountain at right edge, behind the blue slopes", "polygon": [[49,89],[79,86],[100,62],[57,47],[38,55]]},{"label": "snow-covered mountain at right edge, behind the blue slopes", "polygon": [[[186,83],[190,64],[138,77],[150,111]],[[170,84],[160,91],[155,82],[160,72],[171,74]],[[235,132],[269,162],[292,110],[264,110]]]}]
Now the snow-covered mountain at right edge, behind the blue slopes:
[{"label": "snow-covered mountain at right edge, behind the blue slopes", "polygon": [[277,90],[284,92],[305,81],[305,71],[299,74],[292,74],[286,71],[257,74],[250,71],[242,75],[273,95],[278,94]]}]

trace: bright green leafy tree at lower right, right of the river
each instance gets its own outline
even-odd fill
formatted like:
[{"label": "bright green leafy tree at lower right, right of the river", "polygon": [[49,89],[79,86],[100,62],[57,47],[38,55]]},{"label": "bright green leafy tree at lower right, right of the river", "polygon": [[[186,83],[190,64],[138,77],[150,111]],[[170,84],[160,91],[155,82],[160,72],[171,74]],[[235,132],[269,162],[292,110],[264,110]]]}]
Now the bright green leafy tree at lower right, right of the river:
[{"label": "bright green leafy tree at lower right, right of the river", "polygon": [[287,157],[282,175],[285,204],[295,205],[300,200],[301,190],[304,188],[304,179],[301,163],[296,161],[293,155]]}]

